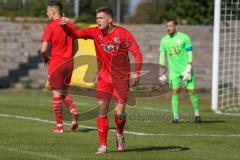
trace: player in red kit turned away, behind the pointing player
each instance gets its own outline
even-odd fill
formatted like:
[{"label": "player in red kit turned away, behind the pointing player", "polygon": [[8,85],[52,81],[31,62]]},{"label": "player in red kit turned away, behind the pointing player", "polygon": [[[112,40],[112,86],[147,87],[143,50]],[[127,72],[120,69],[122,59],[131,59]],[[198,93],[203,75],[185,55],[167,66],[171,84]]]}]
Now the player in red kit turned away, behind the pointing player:
[{"label": "player in red kit turned away, behind the pointing player", "polygon": [[[69,108],[72,115],[71,130],[78,127],[76,106],[69,95],[69,84],[73,70],[73,56],[75,52],[74,39],[68,36],[60,27],[62,5],[57,1],[50,1],[47,7],[47,16],[51,22],[47,24],[42,34],[42,59],[48,65],[48,82],[53,92],[53,110],[56,117],[55,133],[62,133],[62,103]],[[69,25],[74,28],[73,25]],[[51,46],[50,57],[47,56],[48,47]]]}]

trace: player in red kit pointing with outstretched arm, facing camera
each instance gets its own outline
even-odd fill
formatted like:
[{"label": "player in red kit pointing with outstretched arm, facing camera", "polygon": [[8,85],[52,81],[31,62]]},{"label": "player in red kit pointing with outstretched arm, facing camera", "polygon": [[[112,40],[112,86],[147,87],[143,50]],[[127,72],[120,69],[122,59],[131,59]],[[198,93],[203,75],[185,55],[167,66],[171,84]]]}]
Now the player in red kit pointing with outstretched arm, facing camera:
[{"label": "player in red kit pointing with outstretched arm, facing camera", "polygon": [[101,7],[96,10],[97,26],[83,30],[75,30],[69,27],[71,21],[62,18],[61,25],[64,30],[73,38],[93,39],[96,49],[98,62],[97,77],[97,130],[100,147],[97,154],[107,152],[107,133],[108,133],[108,109],[109,102],[114,97],[115,106],[115,125],[117,150],[124,151],[125,141],[123,128],[126,122],[124,113],[127,101],[130,78],[130,61],[128,51],[135,59],[135,73],[131,84],[136,85],[139,80],[142,54],[139,47],[129,31],[113,24],[112,10]]}]

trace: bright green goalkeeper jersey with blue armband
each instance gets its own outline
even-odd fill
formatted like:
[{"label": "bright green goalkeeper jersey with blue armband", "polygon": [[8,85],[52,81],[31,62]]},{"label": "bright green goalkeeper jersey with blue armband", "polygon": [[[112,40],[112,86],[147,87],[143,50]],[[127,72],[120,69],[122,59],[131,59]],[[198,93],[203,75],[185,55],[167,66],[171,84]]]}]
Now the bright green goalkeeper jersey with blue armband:
[{"label": "bright green goalkeeper jersey with blue armband", "polygon": [[165,57],[168,60],[170,79],[180,77],[192,62],[192,43],[189,36],[176,32],[173,36],[165,35],[160,41],[160,64],[164,65]]}]

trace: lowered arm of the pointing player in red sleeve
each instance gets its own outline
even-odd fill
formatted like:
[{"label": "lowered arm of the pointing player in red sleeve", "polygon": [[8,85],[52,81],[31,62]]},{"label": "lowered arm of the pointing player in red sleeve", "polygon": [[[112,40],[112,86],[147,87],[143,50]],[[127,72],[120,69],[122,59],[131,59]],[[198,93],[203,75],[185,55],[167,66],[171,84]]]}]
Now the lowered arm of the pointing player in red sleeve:
[{"label": "lowered arm of the pointing player in red sleeve", "polygon": [[142,68],[142,53],[139,49],[139,46],[136,42],[136,40],[133,38],[131,34],[129,34],[129,40],[131,43],[131,46],[129,48],[131,54],[134,57],[135,60],[135,72],[132,77],[132,86],[135,86],[139,82],[139,76],[141,73],[141,68]]}]

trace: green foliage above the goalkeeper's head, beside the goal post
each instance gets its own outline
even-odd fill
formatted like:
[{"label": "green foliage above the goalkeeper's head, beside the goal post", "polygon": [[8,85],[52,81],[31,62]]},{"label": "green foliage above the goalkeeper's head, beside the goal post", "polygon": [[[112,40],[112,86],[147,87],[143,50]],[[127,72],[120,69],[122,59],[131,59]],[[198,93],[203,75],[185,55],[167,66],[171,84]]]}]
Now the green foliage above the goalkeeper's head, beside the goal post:
[{"label": "green foliage above the goalkeeper's head, beside the goal post", "polygon": [[213,23],[213,0],[143,0],[132,23],[163,23],[176,18],[179,23],[208,25]]}]

